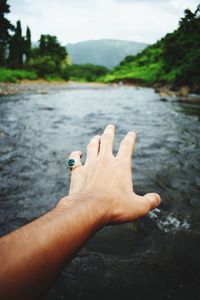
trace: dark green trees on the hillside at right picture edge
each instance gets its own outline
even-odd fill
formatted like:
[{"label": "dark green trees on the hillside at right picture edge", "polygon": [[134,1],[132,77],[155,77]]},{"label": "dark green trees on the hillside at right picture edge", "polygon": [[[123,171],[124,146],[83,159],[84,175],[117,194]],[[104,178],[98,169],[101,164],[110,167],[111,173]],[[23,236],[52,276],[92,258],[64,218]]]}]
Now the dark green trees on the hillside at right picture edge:
[{"label": "dark green trees on the hillside at right picture edge", "polygon": [[193,13],[185,10],[179,28],[163,40],[166,71],[177,70],[177,84],[200,82],[200,5]]}]

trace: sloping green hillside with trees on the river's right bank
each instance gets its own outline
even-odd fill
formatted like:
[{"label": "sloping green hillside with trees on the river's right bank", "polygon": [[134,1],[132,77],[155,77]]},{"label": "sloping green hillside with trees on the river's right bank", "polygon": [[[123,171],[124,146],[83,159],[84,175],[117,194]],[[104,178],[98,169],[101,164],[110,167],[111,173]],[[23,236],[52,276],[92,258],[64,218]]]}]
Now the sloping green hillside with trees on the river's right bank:
[{"label": "sloping green hillside with trees on the river's right bank", "polygon": [[136,56],[127,56],[104,78],[104,82],[125,81],[144,84],[200,87],[200,6],[185,11],[173,33]]}]

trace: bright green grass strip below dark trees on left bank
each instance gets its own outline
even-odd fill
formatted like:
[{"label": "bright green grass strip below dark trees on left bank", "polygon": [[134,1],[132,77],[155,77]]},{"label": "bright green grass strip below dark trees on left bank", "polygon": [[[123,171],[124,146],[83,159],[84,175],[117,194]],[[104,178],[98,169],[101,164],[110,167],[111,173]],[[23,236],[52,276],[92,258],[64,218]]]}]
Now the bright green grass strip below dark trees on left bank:
[{"label": "bright green grass strip below dark trees on left bank", "polygon": [[0,69],[0,81],[2,82],[16,82],[22,79],[35,80],[37,78],[37,74],[33,71]]}]

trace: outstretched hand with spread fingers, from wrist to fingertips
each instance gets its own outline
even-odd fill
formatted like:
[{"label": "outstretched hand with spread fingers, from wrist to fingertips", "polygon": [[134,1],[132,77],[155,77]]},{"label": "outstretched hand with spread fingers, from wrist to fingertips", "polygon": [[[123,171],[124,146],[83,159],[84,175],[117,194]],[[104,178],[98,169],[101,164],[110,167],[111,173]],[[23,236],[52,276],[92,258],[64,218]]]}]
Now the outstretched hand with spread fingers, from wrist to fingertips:
[{"label": "outstretched hand with spread fingers, from wrist to fingertips", "polygon": [[[131,158],[136,134],[129,132],[113,155],[115,127],[108,125],[102,136],[95,136],[87,146],[84,165],[72,171],[69,195],[76,199],[90,198],[105,209],[106,223],[123,223],[146,215],[160,204],[160,196],[137,195],[132,186]],[[70,158],[81,159],[81,152]],[[84,197],[83,197],[84,195]],[[61,200],[64,204],[65,198]],[[61,204],[61,205],[62,205]]]}]

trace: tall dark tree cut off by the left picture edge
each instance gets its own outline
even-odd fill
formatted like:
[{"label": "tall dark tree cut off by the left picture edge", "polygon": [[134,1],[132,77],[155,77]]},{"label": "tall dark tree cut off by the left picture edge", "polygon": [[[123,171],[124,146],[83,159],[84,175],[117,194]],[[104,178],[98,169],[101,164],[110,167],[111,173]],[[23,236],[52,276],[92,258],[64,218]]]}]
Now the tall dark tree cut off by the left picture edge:
[{"label": "tall dark tree cut off by the left picture edge", "polygon": [[10,39],[10,30],[13,30],[13,25],[5,18],[5,14],[10,12],[10,6],[7,0],[0,1],[0,66],[5,65],[8,42]]}]

